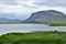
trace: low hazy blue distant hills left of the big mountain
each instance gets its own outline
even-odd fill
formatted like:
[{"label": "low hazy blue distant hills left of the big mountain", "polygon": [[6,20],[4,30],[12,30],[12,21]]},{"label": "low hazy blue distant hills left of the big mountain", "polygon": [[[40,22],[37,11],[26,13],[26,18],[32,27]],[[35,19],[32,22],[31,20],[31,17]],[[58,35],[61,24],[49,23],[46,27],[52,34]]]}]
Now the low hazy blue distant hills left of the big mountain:
[{"label": "low hazy blue distant hills left of the big mountain", "polygon": [[21,20],[0,18],[0,24],[18,24],[18,23],[21,23]]}]

